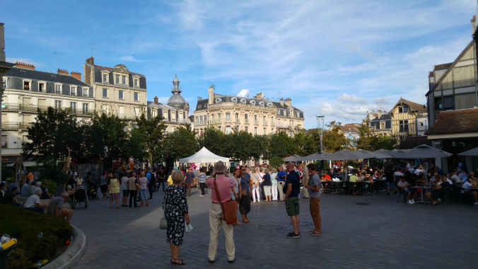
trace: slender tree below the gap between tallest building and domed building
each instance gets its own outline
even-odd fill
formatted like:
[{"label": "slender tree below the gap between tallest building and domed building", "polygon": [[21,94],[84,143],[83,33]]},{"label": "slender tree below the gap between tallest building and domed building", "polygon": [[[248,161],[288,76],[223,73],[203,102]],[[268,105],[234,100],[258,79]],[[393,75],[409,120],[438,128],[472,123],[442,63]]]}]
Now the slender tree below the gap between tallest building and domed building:
[{"label": "slender tree below the gap between tallest building and domed building", "polygon": [[141,117],[136,118],[135,130],[144,136],[142,140],[148,153],[148,159],[153,164],[153,156],[161,154],[161,143],[165,130],[163,118],[158,115],[148,120],[143,113]]}]

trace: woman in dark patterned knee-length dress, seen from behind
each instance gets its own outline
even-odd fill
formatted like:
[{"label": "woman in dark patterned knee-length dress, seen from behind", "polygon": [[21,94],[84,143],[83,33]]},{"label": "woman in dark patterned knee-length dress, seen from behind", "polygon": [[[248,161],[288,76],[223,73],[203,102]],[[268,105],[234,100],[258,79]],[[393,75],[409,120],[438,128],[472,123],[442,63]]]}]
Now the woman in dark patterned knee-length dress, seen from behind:
[{"label": "woman in dark patterned knee-length dress, seen from behind", "polygon": [[185,234],[185,222],[190,224],[190,215],[187,213],[186,190],[181,186],[184,176],[181,172],[175,171],[171,178],[173,185],[170,185],[164,196],[164,216],[168,221],[166,241],[171,251],[171,263],[185,265],[185,261],[179,258],[179,250],[182,244],[182,236]]}]

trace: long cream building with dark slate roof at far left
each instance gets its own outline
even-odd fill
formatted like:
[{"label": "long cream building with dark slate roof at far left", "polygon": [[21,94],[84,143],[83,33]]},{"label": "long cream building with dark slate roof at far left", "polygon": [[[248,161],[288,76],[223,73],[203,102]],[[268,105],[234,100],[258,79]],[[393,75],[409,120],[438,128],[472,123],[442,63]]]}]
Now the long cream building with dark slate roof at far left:
[{"label": "long cream building with dark slate roof at far left", "polygon": [[95,113],[93,88],[81,81],[81,74],[58,69],[57,74],[37,71],[32,64],[18,63],[3,77],[1,103],[1,147],[3,156],[20,156],[27,142],[27,128],[37,110],[70,110],[78,120],[90,120]]}]

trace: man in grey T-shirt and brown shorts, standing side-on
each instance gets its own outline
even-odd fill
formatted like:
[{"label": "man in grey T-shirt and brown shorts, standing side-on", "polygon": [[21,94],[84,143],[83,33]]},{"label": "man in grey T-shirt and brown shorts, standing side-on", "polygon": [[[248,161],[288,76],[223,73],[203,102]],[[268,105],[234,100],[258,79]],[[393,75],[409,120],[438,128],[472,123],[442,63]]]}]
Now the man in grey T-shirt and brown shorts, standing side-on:
[{"label": "man in grey T-shirt and brown shorts, standing side-on", "polygon": [[314,229],[309,231],[309,234],[313,236],[322,235],[321,219],[320,219],[320,177],[315,169],[314,164],[308,164],[308,171],[310,173],[310,182],[304,182],[304,188],[307,188],[310,192],[310,216],[312,216],[312,221],[314,222]]}]

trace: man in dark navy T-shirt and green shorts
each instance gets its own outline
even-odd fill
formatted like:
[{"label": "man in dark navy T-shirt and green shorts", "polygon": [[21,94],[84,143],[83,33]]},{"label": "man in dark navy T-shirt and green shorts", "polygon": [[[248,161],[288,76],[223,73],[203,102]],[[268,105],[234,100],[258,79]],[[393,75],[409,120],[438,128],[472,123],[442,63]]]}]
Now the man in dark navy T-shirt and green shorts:
[{"label": "man in dark navy T-shirt and green shorts", "polygon": [[298,195],[301,193],[301,181],[296,170],[293,168],[293,163],[287,163],[288,175],[286,178],[286,195],[284,200],[286,201],[286,211],[291,217],[293,231],[286,236],[289,238],[300,238],[299,225],[301,220],[299,219],[299,204]]}]

